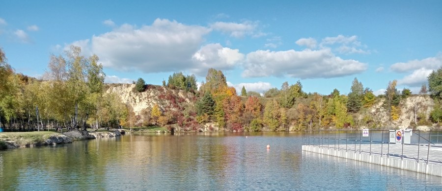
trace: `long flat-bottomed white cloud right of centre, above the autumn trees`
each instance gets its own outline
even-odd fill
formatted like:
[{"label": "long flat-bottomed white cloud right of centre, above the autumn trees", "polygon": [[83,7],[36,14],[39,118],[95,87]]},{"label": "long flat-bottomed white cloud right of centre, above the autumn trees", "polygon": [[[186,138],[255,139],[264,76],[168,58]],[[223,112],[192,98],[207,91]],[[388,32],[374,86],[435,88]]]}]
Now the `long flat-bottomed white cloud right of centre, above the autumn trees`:
[{"label": "long flat-bottomed white cloud right of centre, above the autumn trees", "polygon": [[367,69],[365,63],[344,60],[331,49],[303,51],[257,50],[246,56],[245,77],[289,76],[295,78],[331,78],[352,75]]}]

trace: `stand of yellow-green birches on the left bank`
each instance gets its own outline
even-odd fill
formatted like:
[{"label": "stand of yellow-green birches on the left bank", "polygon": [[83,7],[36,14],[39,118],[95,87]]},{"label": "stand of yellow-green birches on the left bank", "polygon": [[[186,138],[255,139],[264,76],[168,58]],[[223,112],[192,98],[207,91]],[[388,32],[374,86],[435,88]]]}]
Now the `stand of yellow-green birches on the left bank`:
[{"label": "stand of yellow-green birches on the left bank", "polygon": [[71,46],[51,55],[42,80],[16,73],[0,49],[0,125],[11,131],[114,127],[127,121],[127,106],[104,94],[106,74],[96,55]]}]

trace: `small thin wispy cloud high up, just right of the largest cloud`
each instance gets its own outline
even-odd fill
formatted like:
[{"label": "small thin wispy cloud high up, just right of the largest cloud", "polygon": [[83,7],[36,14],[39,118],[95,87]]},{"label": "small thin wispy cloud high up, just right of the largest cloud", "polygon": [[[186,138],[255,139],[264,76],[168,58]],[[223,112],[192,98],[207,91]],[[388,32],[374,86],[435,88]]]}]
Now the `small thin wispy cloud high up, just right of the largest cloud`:
[{"label": "small thin wispy cloud high up, just right of the largest cloud", "polygon": [[243,38],[246,35],[252,37],[261,37],[266,34],[257,31],[258,22],[245,21],[243,23],[227,23],[227,22],[215,22],[210,24],[210,28],[213,30],[221,31],[224,34],[229,34],[231,37]]}]

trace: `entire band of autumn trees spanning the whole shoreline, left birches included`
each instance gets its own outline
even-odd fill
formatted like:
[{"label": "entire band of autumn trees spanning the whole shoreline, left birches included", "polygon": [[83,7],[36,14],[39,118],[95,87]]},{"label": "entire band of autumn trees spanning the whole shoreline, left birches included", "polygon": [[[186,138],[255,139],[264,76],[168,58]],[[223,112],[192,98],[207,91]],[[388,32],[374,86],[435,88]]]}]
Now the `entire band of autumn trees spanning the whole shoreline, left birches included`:
[{"label": "entire band of autumn trees spanning the whole shoreline, left birches included", "polygon": [[[300,81],[284,82],[280,89],[272,88],[262,95],[246,91],[243,86],[238,95],[235,88],[227,85],[221,71],[209,69],[199,89],[194,75],[174,72],[167,82],[163,80],[163,93],[159,95],[168,105],[155,104],[135,115],[125,100],[104,92],[106,74],[98,56],[86,58],[78,47],[72,46],[65,55],[51,55],[42,80],[15,73],[2,49],[0,58],[0,125],[10,130],[78,130],[121,125],[178,125],[197,130],[208,123],[228,131],[378,128],[387,121],[373,119],[367,112],[370,107],[384,100],[388,120],[395,121],[402,112],[401,100],[412,96],[409,89],[397,90],[396,80],[387,84],[385,94],[375,96],[357,78],[348,95],[341,95],[336,89],[329,95],[305,93]],[[134,91],[149,89],[142,78],[134,84]],[[442,68],[428,76],[428,88],[423,84],[419,92],[430,93],[435,101],[430,116],[419,113],[420,106],[415,104],[411,125],[439,123],[442,119],[441,84]],[[184,104],[182,97],[169,90],[193,95],[193,104]]]}]

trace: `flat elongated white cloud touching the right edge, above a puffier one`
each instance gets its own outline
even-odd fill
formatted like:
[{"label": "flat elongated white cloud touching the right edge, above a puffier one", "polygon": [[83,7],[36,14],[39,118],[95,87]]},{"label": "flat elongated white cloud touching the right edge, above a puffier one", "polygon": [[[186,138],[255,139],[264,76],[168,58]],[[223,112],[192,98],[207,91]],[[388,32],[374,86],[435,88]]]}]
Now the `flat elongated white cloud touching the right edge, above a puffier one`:
[{"label": "flat elongated white cloud touching the right edge, above a puffier one", "polygon": [[399,62],[390,66],[394,72],[410,72],[417,69],[438,70],[442,66],[442,54],[436,57],[429,57],[422,60],[411,60],[408,62]]}]

